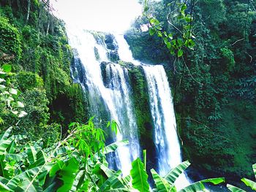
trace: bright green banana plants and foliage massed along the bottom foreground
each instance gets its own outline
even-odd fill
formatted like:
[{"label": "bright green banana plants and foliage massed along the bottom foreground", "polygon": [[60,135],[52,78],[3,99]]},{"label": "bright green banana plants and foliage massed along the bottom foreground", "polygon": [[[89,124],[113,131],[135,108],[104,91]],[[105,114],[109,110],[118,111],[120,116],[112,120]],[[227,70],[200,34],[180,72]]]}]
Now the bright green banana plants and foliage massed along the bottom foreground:
[{"label": "bright green banana plants and foliage massed along the bottom foreground", "polygon": [[[87,125],[72,123],[65,139],[48,148],[42,140],[24,143],[23,135],[12,135],[12,127],[0,137],[1,191],[149,191],[148,174],[140,158],[132,162],[131,175],[108,168],[105,155],[127,140],[105,147],[104,133],[89,120]],[[154,191],[177,191],[175,181],[189,162],[178,165],[165,177],[154,169]],[[181,191],[203,191],[203,183],[219,184],[223,178],[202,180]]]}]

